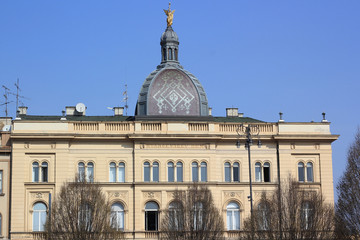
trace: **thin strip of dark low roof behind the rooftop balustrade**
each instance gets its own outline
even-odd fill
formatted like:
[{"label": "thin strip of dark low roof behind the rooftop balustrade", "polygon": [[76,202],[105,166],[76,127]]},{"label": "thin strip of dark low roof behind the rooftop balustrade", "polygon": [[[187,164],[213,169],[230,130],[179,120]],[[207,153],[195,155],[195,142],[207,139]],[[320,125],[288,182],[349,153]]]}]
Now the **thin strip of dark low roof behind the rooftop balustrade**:
[{"label": "thin strip of dark low roof behind the rooftop balustrade", "polygon": [[[209,121],[209,122],[233,122],[233,123],[244,123],[253,122],[261,123],[263,121],[249,117],[134,117],[134,116],[65,116],[67,121]],[[60,121],[62,116],[38,116],[38,115],[20,115],[21,120],[26,121]]]}]

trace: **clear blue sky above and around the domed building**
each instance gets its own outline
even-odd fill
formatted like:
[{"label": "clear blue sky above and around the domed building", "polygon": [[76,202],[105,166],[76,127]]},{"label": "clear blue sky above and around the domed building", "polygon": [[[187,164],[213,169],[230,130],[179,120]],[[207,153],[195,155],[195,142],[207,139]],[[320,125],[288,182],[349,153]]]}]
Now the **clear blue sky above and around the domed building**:
[{"label": "clear blue sky above and around the domed building", "polygon": [[[107,107],[124,105],[127,84],[133,115],[160,62],[167,7],[163,0],[0,1],[0,83],[15,91],[20,79],[31,115],[60,115],[78,102],[88,115],[112,115]],[[360,1],[175,0],[172,7],[180,63],[202,82],[213,114],[238,107],[263,121],[282,111],[286,121],[309,122],[325,111],[341,135],[333,143],[336,184],[360,122]],[[14,116],[15,104],[9,108]]]}]

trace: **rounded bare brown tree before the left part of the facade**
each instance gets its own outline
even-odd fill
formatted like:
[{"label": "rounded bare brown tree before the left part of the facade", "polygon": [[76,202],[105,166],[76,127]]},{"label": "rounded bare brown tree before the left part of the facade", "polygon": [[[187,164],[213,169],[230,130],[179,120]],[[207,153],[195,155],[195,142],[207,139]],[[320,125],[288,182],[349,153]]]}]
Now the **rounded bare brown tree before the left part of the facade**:
[{"label": "rounded bare brown tree before the left part of the facade", "polygon": [[51,205],[42,239],[122,239],[101,187],[85,177],[65,183]]}]

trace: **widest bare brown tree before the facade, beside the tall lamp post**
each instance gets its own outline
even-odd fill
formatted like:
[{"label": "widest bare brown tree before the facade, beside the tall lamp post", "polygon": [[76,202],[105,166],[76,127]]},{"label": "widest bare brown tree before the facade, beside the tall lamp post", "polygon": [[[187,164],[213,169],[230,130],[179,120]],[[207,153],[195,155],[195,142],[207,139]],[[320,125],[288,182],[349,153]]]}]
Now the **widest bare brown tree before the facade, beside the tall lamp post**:
[{"label": "widest bare brown tree before the facade, beside the tall lamp post", "polygon": [[319,191],[304,189],[290,177],[270,195],[262,194],[243,239],[333,239],[334,208]]}]

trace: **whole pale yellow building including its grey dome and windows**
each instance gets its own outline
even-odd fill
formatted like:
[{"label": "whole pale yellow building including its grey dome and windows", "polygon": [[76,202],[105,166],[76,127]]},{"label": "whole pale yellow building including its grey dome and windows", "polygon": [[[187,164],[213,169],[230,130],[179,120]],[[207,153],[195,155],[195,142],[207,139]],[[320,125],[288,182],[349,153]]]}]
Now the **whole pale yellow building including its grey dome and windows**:
[{"label": "whole pale yellow building including its grey dome and windows", "polygon": [[[79,173],[101,185],[131,239],[156,239],[173,192],[193,182],[211,190],[226,236],[236,237],[250,213],[249,168],[254,206],[289,174],[334,202],[331,143],[338,136],[329,122],[264,122],[236,108],[214,117],[200,81],[178,55],[179,39],[168,24],[161,63],[144,81],[135,116],[122,108],[114,116],[86,116],[83,104],[63,116],[20,109],[11,132],[11,239],[43,231],[50,202]],[[250,166],[246,127],[262,142],[251,148]]]}]

